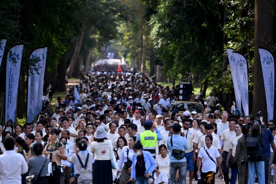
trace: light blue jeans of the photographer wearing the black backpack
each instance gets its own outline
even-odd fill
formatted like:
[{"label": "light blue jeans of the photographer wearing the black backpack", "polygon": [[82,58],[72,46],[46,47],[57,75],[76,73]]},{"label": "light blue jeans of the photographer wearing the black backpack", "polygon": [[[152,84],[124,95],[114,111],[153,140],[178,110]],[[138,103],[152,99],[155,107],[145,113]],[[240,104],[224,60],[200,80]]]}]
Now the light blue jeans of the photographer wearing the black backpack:
[{"label": "light blue jeans of the photographer wearing the black backpack", "polygon": [[264,161],[260,161],[248,162],[248,184],[254,184],[256,171],[258,175],[258,183],[265,183]]}]

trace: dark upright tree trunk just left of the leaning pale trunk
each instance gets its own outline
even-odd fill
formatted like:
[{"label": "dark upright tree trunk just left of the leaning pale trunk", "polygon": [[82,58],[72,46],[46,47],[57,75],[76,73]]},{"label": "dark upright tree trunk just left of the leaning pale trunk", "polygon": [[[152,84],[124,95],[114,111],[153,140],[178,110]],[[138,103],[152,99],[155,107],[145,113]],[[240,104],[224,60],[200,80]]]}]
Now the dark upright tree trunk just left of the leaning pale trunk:
[{"label": "dark upright tree trunk just left of the leaning pale trunk", "polygon": [[66,63],[66,57],[65,54],[62,55],[62,58],[59,61],[59,64],[57,64],[57,77],[56,77],[56,83],[55,83],[55,91],[57,92],[63,92],[66,91],[66,85],[65,85],[65,63]]}]

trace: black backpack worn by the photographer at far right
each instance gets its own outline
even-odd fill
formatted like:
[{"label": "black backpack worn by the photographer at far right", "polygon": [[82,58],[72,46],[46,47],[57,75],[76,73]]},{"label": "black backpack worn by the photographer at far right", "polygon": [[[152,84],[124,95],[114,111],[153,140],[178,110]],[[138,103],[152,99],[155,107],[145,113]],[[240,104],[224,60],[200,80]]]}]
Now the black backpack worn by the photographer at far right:
[{"label": "black backpack worn by the photographer at far right", "polygon": [[259,162],[264,160],[264,151],[263,151],[263,143],[262,134],[259,134],[257,137],[252,137],[249,133],[246,138],[246,148],[247,148],[247,157],[248,160],[253,162]]}]

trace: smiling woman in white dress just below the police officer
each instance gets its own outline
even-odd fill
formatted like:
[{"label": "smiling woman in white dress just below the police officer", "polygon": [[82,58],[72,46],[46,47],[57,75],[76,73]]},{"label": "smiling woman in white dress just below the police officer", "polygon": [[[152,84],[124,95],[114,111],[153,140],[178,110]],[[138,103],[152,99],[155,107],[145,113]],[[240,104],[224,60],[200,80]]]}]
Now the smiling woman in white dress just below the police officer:
[{"label": "smiling woman in white dress just below the police officer", "polygon": [[167,155],[166,145],[159,146],[159,153],[160,155],[155,158],[157,167],[154,170],[154,183],[167,184],[169,182],[169,155]]}]

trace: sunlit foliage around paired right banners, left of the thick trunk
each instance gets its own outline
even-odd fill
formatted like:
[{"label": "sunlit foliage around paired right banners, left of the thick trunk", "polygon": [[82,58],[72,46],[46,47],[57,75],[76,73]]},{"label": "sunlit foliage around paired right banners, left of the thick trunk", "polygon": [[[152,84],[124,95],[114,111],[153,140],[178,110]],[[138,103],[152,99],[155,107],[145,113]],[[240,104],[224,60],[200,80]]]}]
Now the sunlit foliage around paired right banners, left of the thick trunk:
[{"label": "sunlit foliage around paired right banners, left of the thick trunk", "polygon": [[[252,0],[221,0],[227,11],[226,24],[223,26],[227,37],[226,48],[232,48],[244,54],[248,63],[248,91],[253,93],[253,62],[254,62],[254,1]],[[216,70],[219,71],[219,70]],[[210,86],[214,93],[234,93],[232,75],[228,65],[225,75],[210,76]]]}]

